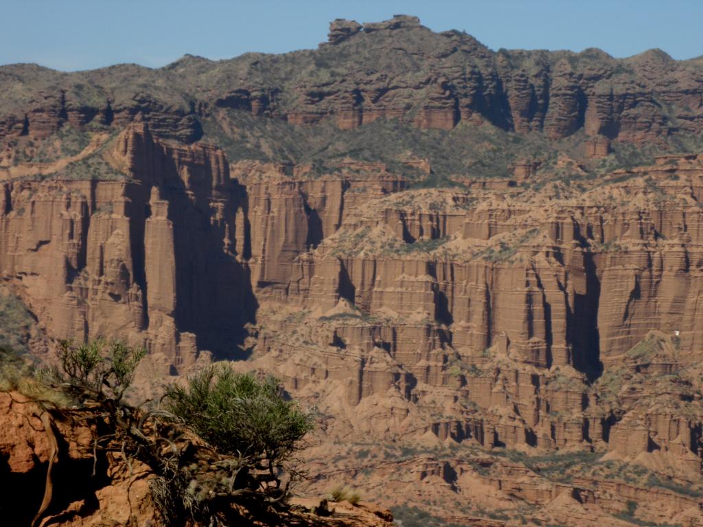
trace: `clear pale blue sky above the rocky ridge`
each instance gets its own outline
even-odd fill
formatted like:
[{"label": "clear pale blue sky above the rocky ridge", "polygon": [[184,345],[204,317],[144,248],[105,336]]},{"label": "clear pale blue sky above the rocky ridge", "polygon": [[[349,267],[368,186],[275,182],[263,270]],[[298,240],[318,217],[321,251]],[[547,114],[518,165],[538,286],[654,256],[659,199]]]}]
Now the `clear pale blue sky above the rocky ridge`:
[{"label": "clear pale blue sky above the rocky ridge", "polygon": [[314,48],[334,18],[394,13],[434,31],[465,30],[493,49],[703,55],[703,0],[0,0],[0,8],[0,64],[58,70]]}]

